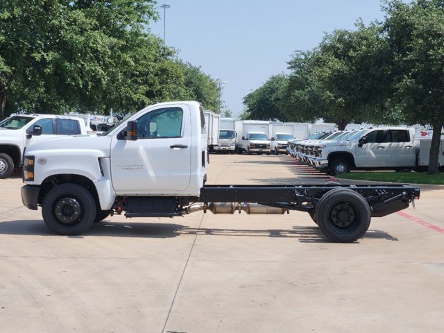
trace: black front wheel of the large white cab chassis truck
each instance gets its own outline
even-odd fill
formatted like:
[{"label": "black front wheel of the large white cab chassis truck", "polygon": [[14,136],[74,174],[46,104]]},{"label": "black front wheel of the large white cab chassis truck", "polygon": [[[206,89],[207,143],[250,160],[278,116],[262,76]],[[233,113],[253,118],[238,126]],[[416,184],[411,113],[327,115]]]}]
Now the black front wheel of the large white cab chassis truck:
[{"label": "black front wheel of the large white cab chassis truck", "polygon": [[76,235],[85,232],[96,219],[96,212],[92,194],[76,184],[54,187],[42,203],[44,223],[56,234]]}]

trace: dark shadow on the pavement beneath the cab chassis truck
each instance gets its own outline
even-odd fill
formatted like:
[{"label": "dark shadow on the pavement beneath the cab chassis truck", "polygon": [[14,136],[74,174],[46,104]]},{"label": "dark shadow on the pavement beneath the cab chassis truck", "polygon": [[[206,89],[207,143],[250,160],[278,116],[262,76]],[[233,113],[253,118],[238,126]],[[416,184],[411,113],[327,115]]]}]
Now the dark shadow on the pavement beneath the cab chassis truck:
[{"label": "dark shadow on the pavement beneath the cab chassis truck", "polygon": [[[0,234],[39,235],[52,237],[88,236],[135,237],[135,238],[171,238],[183,235],[225,236],[225,237],[273,237],[294,238],[301,243],[329,243],[316,226],[293,226],[291,229],[226,229],[226,228],[193,228],[173,223],[121,223],[102,221],[94,223],[85,234],[79,236],[60,236],[46,228],[42,220],[4,221],[0,223]],[[398,241],[382,230],[369,229],[364,238]]]}]

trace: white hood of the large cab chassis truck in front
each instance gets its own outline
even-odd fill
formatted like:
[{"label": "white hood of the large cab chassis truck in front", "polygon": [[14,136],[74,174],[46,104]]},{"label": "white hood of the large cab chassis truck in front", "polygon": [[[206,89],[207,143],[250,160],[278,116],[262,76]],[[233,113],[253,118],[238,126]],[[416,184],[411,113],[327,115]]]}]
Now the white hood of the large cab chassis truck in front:
[{"label": "white hood of the large cab chassis truck in front", "polygon": [[56,137],[26,147],[26,155],[45,154],[57,151],[59,155],[96,155],[97,157],[110,157],[111,136],[105,135],[73,135],[69,137]]}]

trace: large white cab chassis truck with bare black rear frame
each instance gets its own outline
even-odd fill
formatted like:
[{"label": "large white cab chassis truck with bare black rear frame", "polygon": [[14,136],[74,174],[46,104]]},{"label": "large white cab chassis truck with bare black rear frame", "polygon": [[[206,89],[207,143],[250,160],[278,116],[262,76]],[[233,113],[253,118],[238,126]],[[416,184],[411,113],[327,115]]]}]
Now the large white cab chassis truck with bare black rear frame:
[{"label": "large white cab chassis truck with bare black rear frame", "polygon": [[373,216],[409,207],[409,185],[204,185],[207,133],[200,103],[159,103],[102,136],[65,137],[28,146],[22,200],[42,209],[57,234],[87,232],[109,214],[173,217],[309,213],[325,237],[351,242]]}]

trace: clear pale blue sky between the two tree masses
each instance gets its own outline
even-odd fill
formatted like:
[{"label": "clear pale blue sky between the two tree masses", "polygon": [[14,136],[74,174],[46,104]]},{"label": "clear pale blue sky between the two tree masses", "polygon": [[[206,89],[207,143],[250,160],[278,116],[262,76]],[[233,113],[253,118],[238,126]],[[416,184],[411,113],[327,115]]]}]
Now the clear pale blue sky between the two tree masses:
[{"label": "clear pale blue sky between the two tree masses", "polygon": [[[163,3],[170,6],[165,19]],[[289,72],[294,51],[313,49],[334,29],[355,30],[358,19],[384,20],[381,5],[379,0],[159,0],[160,19],[151,32],[165,35],[178,58],[228,81],[221,99],[237,117],[244,96],[271,76]]]}]

